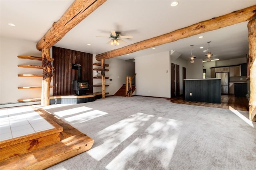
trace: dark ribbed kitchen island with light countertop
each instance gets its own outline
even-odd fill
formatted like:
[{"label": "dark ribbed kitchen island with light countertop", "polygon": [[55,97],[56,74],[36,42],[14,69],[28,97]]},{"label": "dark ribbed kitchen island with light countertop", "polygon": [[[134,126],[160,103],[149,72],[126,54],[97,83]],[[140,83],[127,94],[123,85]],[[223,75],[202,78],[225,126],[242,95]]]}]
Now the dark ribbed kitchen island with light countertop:
[{"label": "dark ribbed kitchen island with light countertop", "polygon": [[185,79],[184,99],[193,102],[221,103],[220,78]]}]

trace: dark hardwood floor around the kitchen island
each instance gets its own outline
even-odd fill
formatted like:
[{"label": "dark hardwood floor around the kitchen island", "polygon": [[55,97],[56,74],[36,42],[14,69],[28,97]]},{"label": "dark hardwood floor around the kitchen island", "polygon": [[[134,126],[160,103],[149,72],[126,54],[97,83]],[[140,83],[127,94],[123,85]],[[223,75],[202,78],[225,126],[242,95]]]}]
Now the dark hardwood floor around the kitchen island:
[{"label": "dark hardwood floor around the kitchen island", "polygon": [[182,95],[175,98],[170,98],[168,100],[170,100],[170,102],[172,103],[178,103],[178,104],[218,107],[222,109],[228,109],[228,106],[231,106],[236,110],[249,111],[248,99],[246,97],[237,97],[234,95],[221,95],[221,104],[185,101],[183,100]]}]

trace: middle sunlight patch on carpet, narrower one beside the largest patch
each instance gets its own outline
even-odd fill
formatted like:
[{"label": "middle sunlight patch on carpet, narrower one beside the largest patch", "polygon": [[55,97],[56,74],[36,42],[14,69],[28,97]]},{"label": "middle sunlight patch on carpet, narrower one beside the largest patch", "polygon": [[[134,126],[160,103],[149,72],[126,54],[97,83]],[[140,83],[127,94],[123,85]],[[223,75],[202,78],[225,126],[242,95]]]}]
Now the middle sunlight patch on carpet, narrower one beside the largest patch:
[{"label": "middle sunlight patch on carpet, narrower one beside the largest patch", "polygon": [[103,143],[87,151],[87,153],[96,160],[101,160],[104,156],[110,153],[114,148],[120,145],[124,140],[136,132],[139,127],[145,125],[153,115],[144,113],[136,113],[130,115],[126,119],[118,121],[117,123],[103,129],[97,133],[97,136]]}]

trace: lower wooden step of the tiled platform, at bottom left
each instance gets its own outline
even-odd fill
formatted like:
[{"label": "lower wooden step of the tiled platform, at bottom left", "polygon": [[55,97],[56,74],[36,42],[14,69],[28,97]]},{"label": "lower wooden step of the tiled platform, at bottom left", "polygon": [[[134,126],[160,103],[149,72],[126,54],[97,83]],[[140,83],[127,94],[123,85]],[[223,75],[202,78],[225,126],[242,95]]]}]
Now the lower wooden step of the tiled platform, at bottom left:
[{"label": "lower wooden step of the tiled platform, at bottom left", "polygon": [[0,169],[38,169],[39,167],[39,169],[45,169],[90,150],[93,143],[93,139],[81,133],[64,139],[54,145],[49,145],[1,161]]}]

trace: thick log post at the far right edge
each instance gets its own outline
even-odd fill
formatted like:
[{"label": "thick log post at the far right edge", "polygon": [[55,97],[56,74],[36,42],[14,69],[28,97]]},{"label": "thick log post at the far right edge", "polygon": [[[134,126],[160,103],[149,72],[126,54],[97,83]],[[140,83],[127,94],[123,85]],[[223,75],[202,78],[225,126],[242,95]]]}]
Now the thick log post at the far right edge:
[{"label": "thick log post at the far right edge", "polygon": [[248,22],[250,101],[249,119],[256,121],[256,14]]}]

